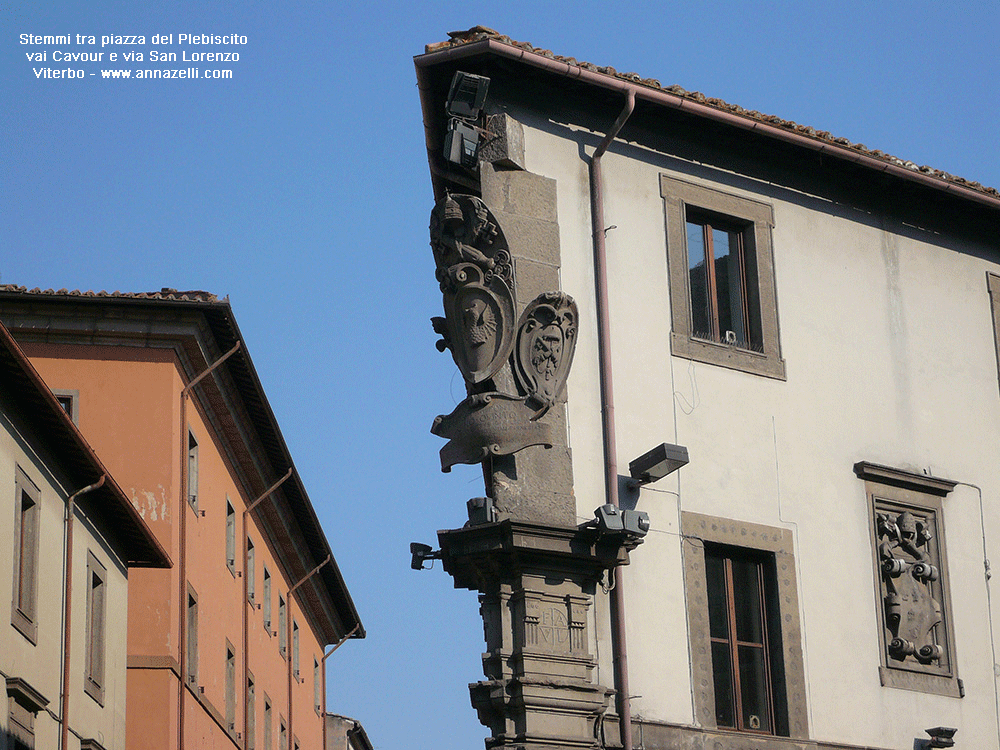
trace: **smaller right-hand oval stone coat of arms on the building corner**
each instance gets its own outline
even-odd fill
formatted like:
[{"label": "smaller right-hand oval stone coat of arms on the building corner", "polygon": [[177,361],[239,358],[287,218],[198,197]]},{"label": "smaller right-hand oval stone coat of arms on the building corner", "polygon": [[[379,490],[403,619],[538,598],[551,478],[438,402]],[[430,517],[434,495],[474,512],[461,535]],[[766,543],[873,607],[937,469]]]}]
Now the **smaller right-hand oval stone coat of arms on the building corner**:
[{"label": "smaller right-hand oval stone coat of arms on the building corner", "polygon": [[576,351],[579,314],[563,292],[545,292],[528,305],[517,331],[514,374],[538,419],[562,393]]}]

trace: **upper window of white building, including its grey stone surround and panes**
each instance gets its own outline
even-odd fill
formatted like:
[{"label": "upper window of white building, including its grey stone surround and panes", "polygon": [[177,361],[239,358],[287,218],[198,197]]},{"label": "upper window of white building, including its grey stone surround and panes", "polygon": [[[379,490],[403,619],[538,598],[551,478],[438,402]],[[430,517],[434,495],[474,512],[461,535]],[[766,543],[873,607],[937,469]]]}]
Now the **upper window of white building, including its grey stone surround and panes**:
[{"label": "upper window of white building, including its grey stone surround and panes", "polygon": [[770,206],[660,175],[676,356],[785,378]]}]

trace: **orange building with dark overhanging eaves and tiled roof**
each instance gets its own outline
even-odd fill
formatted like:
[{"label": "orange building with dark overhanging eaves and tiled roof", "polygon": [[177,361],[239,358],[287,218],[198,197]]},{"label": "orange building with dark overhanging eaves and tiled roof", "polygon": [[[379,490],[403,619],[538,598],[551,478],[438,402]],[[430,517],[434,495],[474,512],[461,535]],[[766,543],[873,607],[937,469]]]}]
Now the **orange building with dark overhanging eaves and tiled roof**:
[{"label": "orange building with dark overhanging eaves and tiled roof", "polygon": [[364,628],[228,301],[4,285],[0,321],[174,561],[129,577],[130,750],[322,748]]}]

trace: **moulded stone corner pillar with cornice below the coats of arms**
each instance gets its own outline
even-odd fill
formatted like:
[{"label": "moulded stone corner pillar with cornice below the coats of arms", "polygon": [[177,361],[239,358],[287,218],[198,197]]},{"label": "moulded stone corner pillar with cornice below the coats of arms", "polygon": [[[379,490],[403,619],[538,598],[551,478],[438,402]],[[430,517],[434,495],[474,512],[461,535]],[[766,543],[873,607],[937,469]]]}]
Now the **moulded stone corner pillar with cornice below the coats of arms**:
[{"label": "moulded stone corner pillar with cornice below the coats of arms", "polygon": [[487,749],[600,748],[595,727],[614,691],[594,681],[592,605],[627,550],[592,528],[513,519],[438,541],[455,586],[480,594],[486,679],[469,692]]}]

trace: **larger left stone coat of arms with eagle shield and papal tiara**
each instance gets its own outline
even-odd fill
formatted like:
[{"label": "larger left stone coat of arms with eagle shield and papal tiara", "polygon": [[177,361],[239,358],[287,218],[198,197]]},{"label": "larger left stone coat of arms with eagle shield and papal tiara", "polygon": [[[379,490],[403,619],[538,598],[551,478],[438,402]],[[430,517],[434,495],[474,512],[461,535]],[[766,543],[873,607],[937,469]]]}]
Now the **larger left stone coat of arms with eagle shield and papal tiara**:
[{"label": "larger left stone coat of arms with eagle shield and papal tiara", "polygon": [[431,211],[431,249],[444,295],[433,318],[438,349],[451,349],[472,385],[493,377],[514,345],[514,283],[507,241],[479,198],[446,194]]}]

